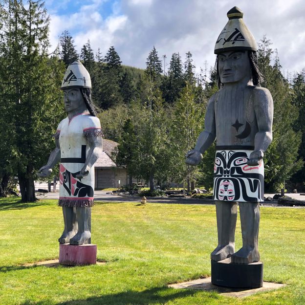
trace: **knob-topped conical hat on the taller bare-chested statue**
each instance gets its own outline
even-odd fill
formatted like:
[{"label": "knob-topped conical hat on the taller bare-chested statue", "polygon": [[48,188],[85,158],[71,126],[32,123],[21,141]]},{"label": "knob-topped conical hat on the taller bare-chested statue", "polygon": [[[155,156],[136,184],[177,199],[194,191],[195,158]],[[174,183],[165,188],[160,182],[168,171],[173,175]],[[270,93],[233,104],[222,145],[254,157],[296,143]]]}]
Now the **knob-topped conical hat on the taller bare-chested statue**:
[{"label": "knob-topped conical hat on the taller bare-chested statue", "polygon": [[234,50],[257,51],[256,41],[243,22],[243,12],[237,6],[231,8],[227,16],[229,21],[218,36],[214,53]]}]

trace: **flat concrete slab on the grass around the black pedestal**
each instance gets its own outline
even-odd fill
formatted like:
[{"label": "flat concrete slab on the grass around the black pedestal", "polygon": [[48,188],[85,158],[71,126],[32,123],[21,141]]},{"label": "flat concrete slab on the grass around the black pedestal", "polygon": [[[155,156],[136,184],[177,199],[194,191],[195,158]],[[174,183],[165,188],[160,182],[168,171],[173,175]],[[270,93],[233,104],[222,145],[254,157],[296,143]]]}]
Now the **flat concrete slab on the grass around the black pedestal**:
[{"label": "flat concrete slab on the grass around the black pedestal", "polygon": [[263,285],[261,288],[255,288],[255,289],[228,288],[228,287],[221,287],[221,286],[213,285],[211,283],[211,277],[169,285],[169,287],[175,288],[175,289],[189,288],[189,289],[200,289],[200,290],[204,290],[204,291],[217,291],[222,296],[235,297],[235,298],[244,298],[244,297],[248,297],[250,295],[259,293],[259,292],[266,292],[266,291],[283,288],[284,286],[286,286],[286,285],[278,284],[278,283],[263,282]]}]

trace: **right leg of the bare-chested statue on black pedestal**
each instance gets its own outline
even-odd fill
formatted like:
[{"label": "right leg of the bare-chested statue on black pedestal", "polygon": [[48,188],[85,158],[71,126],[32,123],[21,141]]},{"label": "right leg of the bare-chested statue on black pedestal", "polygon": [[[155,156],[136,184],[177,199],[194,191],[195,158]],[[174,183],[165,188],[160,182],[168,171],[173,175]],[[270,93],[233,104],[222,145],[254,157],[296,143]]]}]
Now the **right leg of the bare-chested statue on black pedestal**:
[{"label": "right leg of the bare-chested statue on black pedestal", "polygon": [[260,261],[258,250],[260,204],[258,202],[240,202],[240,224],[242,247],[232,255],[232,262],[246,264]]}]

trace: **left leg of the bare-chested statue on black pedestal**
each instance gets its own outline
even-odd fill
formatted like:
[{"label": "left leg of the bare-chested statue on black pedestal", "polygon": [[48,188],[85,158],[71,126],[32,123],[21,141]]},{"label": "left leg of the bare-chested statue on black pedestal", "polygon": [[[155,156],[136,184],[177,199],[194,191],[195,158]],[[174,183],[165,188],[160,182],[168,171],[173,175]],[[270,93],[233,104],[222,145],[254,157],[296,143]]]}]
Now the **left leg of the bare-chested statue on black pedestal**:
[{"label": "left leg of the bare-chested statue on black pedestal", "polygon": [[215,201],[218,231],[218,246],[211,253],[212,261],[222,261],[235,251],[235,228],[237,203]]}]

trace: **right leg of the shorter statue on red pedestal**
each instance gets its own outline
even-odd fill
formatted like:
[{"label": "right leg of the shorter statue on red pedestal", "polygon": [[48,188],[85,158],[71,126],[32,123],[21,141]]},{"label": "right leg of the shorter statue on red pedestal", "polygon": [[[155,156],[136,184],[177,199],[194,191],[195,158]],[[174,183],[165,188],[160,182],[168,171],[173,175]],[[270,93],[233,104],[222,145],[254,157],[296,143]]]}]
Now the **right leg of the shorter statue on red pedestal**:
[{"label": "right leg of the shorter statue on red pedestal", "polygon": [[70,244],[81,245],[88,243],[91,238],[90,223],[91,223],[91,208],[77,207],[77,223],[78,232],[70,239]]}]

